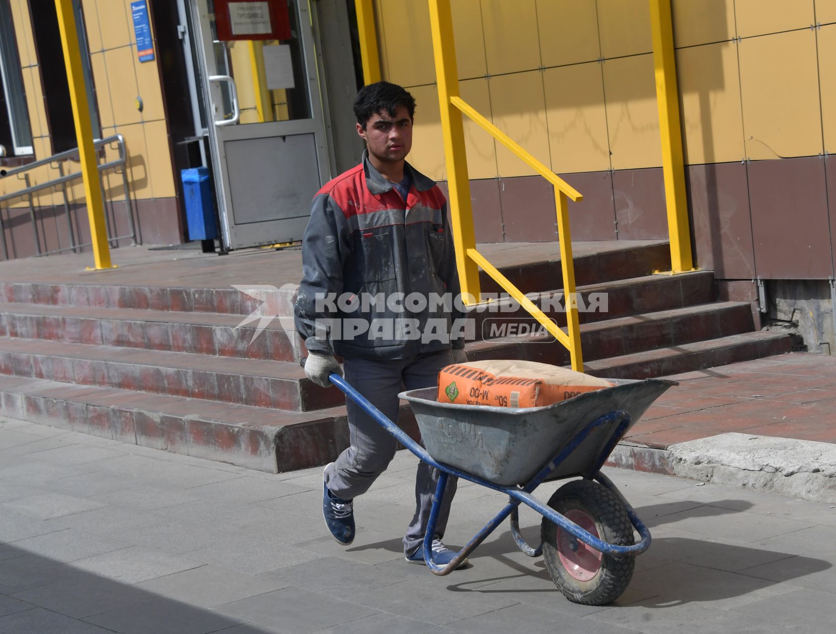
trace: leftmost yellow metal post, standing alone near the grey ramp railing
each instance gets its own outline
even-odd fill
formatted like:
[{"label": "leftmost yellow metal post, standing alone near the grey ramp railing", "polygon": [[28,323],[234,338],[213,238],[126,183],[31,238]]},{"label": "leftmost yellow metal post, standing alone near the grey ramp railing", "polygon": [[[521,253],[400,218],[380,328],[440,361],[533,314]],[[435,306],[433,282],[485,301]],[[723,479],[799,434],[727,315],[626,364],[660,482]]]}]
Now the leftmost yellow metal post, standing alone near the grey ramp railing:
[{"label": "leftmost yellow metal post, standing alone near the grey ramp railing", "polygon": [[87,87],[81,66],[79,38],[76,32],[73,0],[55,0],[61,43],[64,48],[64,66],[67,68],[69,99],[75,118],[75,139],[79,145],[79,161],[84,178],[84,195],[87,198],[87,216],[90,237],[93,242],[93,258],[97,269],[112,268],[107,228],[104,222],[104,200],[99,181],[99,160],[93,144],[93,125],[87,102]]}]

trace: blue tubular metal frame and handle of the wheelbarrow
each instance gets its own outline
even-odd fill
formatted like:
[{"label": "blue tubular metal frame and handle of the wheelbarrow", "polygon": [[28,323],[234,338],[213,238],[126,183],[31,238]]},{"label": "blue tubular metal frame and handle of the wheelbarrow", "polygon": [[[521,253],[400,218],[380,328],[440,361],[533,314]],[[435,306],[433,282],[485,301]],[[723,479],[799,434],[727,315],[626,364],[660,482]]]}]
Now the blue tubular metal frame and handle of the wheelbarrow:
[{"label": "blue tubular metal frame and handle of the wheelbarrow", "polygon": [[[331,383],[336,385],[345,393],[346,397],[350,398],[354,401],[354,403],[357,403],[357,405],[362,408],[365,413],[368,413],[371,418],[374,418],[375,421],[386,429],[386,431],[392,434],[392,436],[394,436],[400,444],[402,444],[406,449],[409,449],[422,462],[430,464],[436,469],[439,469],[441,472],[438,485],[436,486],[436,495],[432,503],[426,534],[424,535],[424,561],[426,566],[430,568],[434,574],[444,576],[451,573],[451,571],[456,570],[458,566],[461,566],[461,562],[465,560],[465,558],[470,555],[470,553],[472,553],[472,551],[475,550],[488,535],[496,530],[497,526],[500,525],[509,515],[511,517],[510,523],[512,536],[514,541],[517,543],[517,546],[519,546],[519,549],[530,557],[538,557],[542,555],[543,544],[541,543],[538,547],[533,548],[528,545],[528,543],[523,539],[523,535],[520,533],[518,507],[521,504],[528,505],[540,515],[543,515],[544,518],[553,522],[555,525],[558,525],[561,530],[564,530],[569,535],[573,535],[576,540],[581,540],[584,544],[591,546],[595,550],[599,550],[605,555],[639,555],[650,547],[650,530],[648,530],[644,523],[639,519],[639,516],[636,515],[635,510],[633,510],[627,500],[624,500],[624,496],[621,495],[612,481],[600,472],[600,469],[604,466],[604,463],[609,458],[609,454],[612,453],[615,445],[624,436],[627,429],[630,428],[632,418],[630,413],[627,411],[624,411],[623,409],[609,411],[608,413],[604,413],[604,415],[597,416],[591,422],[584,424],[580,427],[579,431],[573,434],[573,437],[569,439],[568,442],[561,444],[560,449],[558,449],[558,451],[554,453],[545,464],[543,464],[533,478],[529,479],[525,484],[515,484],[509,486],[496,484],[487,479],[483,479],[461,469],[457,469],[449,464],[443,464],[437,461],[426,451],[426,449],[421,447],[421,444],[416,443],[415,440],[411,439],[408,434],[400,429],[400,427],[398,427],[389,418],[386,418],[386,416],[381,413],[378,408],[375,408],[372,403],[364,398],[363,395],[356,389],[351,387],[351,385],[349,385],[344,378],[340,377],[339,374],[332,373],[329,378]],[[662,386],[659,393],[663,392],[668,386],[675,384],[667,381],[656,381],[655,383]],[[643,411],[644,409],[642,409],[642,412]],[[613,431],[609,435],[609,438],[604,442],[603,449],[598,455],[594,456],[589,464],[585,466],[583,475],[584,478],[595,479],[600,484],[607,487],[607,489],[609,489],[624,506],[624,510],[626,510],[627,515],[630,517],[631,524],[635,530],[638,531],[641,538],[640,542],[635,545],[613,545],[600,540],[595,535],[589,533],[589,531],[584,530],[573,521],[568,520],[566,517],[553,510],[548,505],[543,504],[542,501],[532,495],[533,490],[537,489],[543,481],[549,479],[549,475],[553,475],[553,472],[555,472],[565,460],[572,456],[573,452],[578,449],[581,444],[584,444],[584,441],[588,439],[589,435],[599,428],[609,428]],[[493,489],[504,493],[508,496],[509,500],[507,505],[505,505],[502,510],[497,513],[497,515],[490,520],[487,525],[485,525],[484,528],[482,528],[482,530],[480,530],[477,535],[475,535],[473,539],[470,540],[446,566],[439,566],[432,559],[431,545],[436,533],[436,524],[438,522],[439,511],[441,510],[441,501],[444,498],[447,480],[451,475],[456,476],[457,478],[466,479],[475,484],[480,484],[487,487],[487,489]]]}]

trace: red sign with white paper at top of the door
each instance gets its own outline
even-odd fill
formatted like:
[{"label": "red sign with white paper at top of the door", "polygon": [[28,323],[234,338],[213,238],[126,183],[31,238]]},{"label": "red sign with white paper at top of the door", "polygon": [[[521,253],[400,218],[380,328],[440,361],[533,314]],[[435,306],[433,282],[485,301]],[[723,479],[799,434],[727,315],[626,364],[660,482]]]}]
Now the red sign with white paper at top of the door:
[{"label": "red sign with white paper at top of the door", "polygon": [[287,0],[215,0],[217,38],[290,39]]}]

